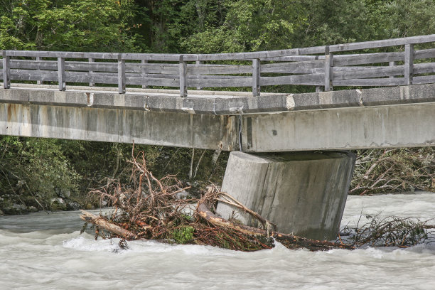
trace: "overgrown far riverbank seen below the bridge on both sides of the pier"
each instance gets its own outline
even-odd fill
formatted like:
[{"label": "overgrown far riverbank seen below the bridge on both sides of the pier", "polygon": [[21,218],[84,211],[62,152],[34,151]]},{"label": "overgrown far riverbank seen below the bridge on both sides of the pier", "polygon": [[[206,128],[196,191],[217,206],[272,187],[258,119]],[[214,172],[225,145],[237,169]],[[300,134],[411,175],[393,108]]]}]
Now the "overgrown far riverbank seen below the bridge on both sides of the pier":
[{"label": "overgrown far riverbank seen below the bridge on both sides of the pier", "polygon": [[[87,194],[116,179],[131,182],[131,156],[145,151],[147,166],[161,178],[176,174],[188,195],[200,197],[220,184],[228,153],[163,146],[133,146],[90,141],[0,139],[0,215],[38,210],[91,210],[106,201]],[[435,191],[435,149],[358,150],[349,193]]]}]

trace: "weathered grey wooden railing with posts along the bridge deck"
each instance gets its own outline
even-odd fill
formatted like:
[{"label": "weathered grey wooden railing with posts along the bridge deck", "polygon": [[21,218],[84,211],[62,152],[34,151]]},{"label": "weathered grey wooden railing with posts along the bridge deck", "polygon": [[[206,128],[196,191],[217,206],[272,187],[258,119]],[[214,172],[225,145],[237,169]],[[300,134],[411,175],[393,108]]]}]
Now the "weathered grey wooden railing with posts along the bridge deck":
[{"label": "weathered grey wooden railing with posts along the bridge deck", "polygon": [[[433,42],[435,34],[288,50],[185,55],[3,50],[0,79],[6,89],[11,80],[58,82],[59,90],[66,90],[67,82],[112,84],[120,94],[127,85],[179,87],[181,97],[187,96],[188,87],[252,87],[252,95],[258,96],[260,88],[269,85],[313,85],[325,91],[333,86],[417,85],[435,82],[431,60],[435,49],[414,50],[414,45]],[[349,54],[387,47],[397,47],[397,51]]]}]

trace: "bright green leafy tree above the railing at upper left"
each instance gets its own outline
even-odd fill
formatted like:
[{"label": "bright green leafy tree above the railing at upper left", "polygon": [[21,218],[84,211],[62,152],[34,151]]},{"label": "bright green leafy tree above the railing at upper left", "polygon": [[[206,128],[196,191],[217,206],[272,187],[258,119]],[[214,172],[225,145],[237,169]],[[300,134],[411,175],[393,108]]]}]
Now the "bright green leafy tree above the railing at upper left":
[{"label": "bright green leafy tree above the railing at upper left", "polygon": [[[132,0],[3,0],[0,48],[138,51]],[[131,20],[131,21],[129,21]]]}]

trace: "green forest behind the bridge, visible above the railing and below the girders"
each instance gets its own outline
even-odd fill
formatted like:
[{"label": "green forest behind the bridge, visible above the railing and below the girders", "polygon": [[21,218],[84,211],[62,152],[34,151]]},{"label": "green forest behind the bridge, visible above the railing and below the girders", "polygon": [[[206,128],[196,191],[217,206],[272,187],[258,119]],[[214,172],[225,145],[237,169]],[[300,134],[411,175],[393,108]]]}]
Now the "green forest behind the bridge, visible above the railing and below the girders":
[{"label": "green forest behind the bridge, visible above the railing and below the girders", "polygon": [[[434,15],[432,0],[0,0],[0,50],[277,50],[432,34]],[[108,180],[128,182],[132,150],[131,144],[0,136],[0,215],[98,207],[87,192]],[[146,152],[159,178],[177,174],[193,195],[222,181],[228,155],[141,145],[134,151]],[[433,148],[356,153],[350,194],[435,190]]]}]

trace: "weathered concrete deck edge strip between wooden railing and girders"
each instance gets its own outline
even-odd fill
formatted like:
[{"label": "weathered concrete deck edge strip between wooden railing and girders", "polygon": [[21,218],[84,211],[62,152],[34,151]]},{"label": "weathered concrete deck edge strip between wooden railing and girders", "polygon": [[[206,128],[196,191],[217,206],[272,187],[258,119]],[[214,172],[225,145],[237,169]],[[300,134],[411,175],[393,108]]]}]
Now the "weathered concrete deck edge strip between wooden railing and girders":
[{"label": "weathered concrete deck edge strip between wooden railing and girders", "polygon": [[[28,85],[29,86],[29,85]],[[189,114],[261,114],[294,112],[343,107],[373,107],[394,104],[435,102],[435,84],[381,87],[364,90],[312,92],[306,94],[262,93],[259,97],[247,92],[189,91],[179,97],[173,90],[129,89],[119,95],[110,88],[68,87],[59,92],[49,86],[23,85],[0,89],[0,102],[53,104],[72,107],[137,109],[151,112]],[[107,90],[107,91],[104,91]]]}]

